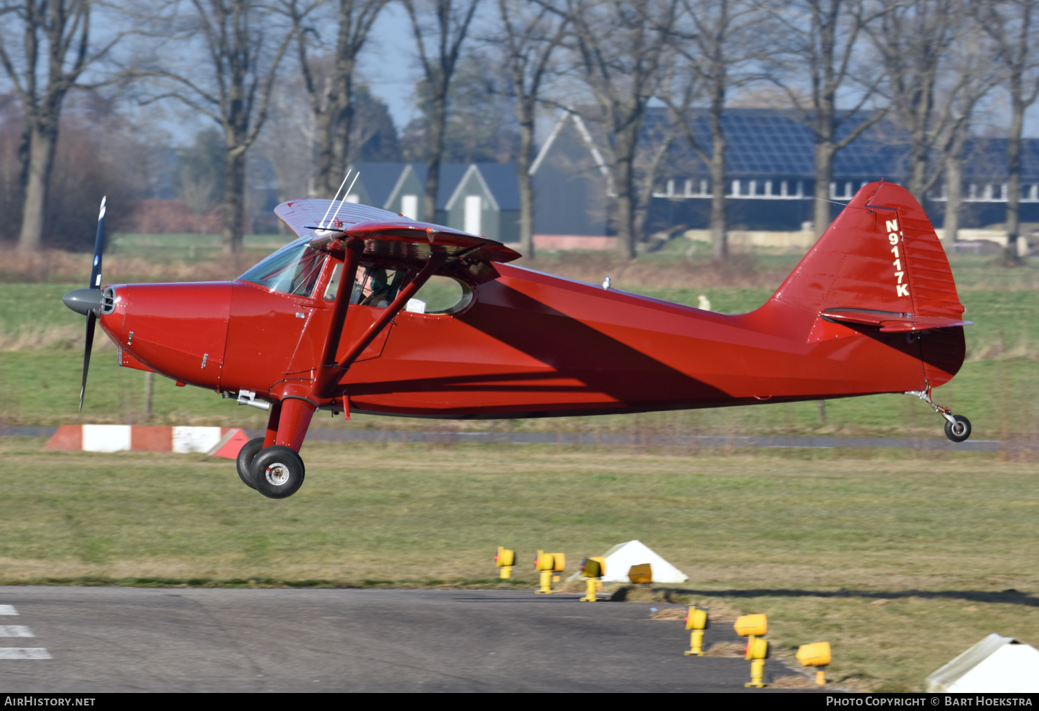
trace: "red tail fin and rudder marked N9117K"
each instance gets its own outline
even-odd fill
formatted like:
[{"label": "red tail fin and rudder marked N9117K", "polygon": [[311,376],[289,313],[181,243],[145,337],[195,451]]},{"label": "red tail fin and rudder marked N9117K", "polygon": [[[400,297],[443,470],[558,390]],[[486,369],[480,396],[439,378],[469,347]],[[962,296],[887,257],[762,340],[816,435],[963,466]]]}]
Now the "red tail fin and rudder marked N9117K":
[{"label": "red tail fin and rudder marked N9117K", "polygon": [[961,326],[969,321],[945,251],[924,209],[891,183],[864,185],[770,302],[810,314],[809,343],[874,330],[931,332],[921,359],[932,386],[963,362]]}]

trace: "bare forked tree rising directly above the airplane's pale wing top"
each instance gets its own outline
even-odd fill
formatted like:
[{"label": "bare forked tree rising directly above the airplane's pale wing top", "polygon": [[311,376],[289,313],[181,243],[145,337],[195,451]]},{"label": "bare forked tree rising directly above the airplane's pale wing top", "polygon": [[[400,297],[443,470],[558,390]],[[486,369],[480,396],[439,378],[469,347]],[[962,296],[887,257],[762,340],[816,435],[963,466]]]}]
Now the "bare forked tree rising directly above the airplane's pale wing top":
[{"label": "bare forked tree rising directly above the airplane's pale wing top", "polygon": [[[337,0],[336,50],[323,72],[315,72],[308,56],[310,38],[317,30],[304,25],[307,7],[295,0],[287,3],[296,28],[296,49],[314,116],[317,165],[313,195],[332,195],[350,157],[355,107],[353,101],[357,57],[368,41],[372,25],[389,0]],[[323,76],[316,76],[323,74]]]}]

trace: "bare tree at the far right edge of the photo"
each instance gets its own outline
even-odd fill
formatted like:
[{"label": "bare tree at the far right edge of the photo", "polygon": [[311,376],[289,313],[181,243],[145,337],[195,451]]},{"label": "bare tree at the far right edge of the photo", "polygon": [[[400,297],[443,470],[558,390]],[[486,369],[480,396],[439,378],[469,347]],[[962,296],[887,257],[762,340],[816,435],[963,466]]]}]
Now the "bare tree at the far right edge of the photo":
[{"label": "bare tree at the far right edge of the photo", "polygon": [[1017,261],[1020,236],[1021,132],[1024,111],[1039,98],[1039,52],[1031,36],[1036,0],[987,0],[976,6],[985,31],[996,43],[1010,94],[1010,135],[1007,141],[1007,258]]}]

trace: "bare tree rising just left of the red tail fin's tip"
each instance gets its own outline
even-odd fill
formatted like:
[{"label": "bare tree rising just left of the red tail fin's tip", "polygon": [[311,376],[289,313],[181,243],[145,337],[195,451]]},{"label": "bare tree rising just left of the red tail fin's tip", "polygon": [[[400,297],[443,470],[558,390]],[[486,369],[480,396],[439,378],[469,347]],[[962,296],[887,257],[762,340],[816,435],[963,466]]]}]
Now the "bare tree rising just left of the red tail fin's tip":
[{"label": "bare tree rising just left of the red tail fin's tip", "polygon": [[[877,22],[884,7],[864,0],[767,0],[772,28],[769,79],[781,87],[800,121],[811,130],[815,143],[816,236],[830,225],[830,182],[840,151],[879,122],[886,107],[863,116],[859,112],[874,99],[881,71],[855,61],[863,30]],[[842,90],[853,88],[851,108],[837,108]],[[840,139],[846,127],[851,127]]]}]

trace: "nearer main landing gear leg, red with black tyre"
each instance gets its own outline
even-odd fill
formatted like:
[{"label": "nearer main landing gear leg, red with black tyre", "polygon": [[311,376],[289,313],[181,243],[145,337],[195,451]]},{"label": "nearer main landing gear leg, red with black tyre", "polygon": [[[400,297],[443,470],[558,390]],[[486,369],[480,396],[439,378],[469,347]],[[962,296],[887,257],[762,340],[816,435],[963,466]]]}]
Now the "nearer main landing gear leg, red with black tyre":
[{"label": "nearer main landing gear leg, red with black tyre", "polygon": [[[276,420],[274,407],[277,407]],[[313,403],[297,397],[286,397],[271,407],[264,445],[269,440],[273,440],[273,444],[264,446],[249,466],[252,485],[264,496],[284,499],[302,485],[305,469],[299,448],[315,410]]]}]

